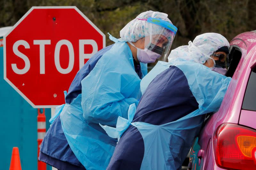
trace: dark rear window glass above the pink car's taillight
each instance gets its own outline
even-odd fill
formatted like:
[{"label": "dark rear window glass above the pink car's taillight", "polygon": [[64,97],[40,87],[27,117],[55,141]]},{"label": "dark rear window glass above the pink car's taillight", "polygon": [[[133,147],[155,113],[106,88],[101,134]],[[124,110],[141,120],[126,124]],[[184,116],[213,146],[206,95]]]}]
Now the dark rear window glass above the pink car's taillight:
[{"label": "dark rear window glass above the pink car's taillight", "polygon": [[251,72],[244,95],[243,109],[256,111],[256,68]]}]

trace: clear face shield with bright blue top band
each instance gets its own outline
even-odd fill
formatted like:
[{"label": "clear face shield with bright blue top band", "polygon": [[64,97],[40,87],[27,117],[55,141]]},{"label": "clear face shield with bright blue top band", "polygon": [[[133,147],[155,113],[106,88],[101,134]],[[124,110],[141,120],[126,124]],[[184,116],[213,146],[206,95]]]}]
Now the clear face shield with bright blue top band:
[{"label": "clear face shield with bright blue top band", "polygon": [[177,27],[170,22],[158,18],[143,20],[152,23],[149,25],[149,28],[146,28],[148,29],[149,35],[141,39],[144,41],[144,51],[148,54],[149,58],[151,58],[148,63],[154,63],[156,59],[161,61],[167,60],[171,52]]}]

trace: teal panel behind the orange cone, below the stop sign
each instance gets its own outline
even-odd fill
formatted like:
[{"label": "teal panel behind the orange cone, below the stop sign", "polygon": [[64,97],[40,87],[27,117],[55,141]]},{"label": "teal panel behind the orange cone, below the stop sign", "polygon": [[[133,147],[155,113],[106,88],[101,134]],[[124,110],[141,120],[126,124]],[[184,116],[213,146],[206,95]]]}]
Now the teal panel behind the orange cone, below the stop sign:
[{"label": "teal panel behind the orange cone, below the stop sign", "polygon": [[[2,39],[2,37],[0,37]],[[37,169],[37,109],[4,80],[3,47],[0,47],[0,170],[8,170],[12,147],[19,147],[21,168]],[[51,109],[45,109],[46,129]],[[47,166],[50,170],[50,166]]]}]

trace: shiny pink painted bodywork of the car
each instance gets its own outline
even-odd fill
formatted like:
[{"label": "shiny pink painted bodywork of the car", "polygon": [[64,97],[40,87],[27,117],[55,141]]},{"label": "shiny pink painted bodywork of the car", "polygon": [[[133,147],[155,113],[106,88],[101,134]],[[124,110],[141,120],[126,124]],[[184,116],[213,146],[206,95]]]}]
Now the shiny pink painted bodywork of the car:
[{"label": "shiny pink painted bodywork of the car", "polygon": [[[250,73],[256,66],[256,32],[245,32],[237,35],[230,46],[238,46],[242,57],[229,84],[227,93],[218,112],[213,114],[200,132],[198,144],[203,154],[200,160],[201,169],[221,170],[217,166],[213,152],[212,137],[217,127],[222,123],[234,123],[256,129],[256,112],[241,110],[244,94]],[[195,169],[195,167],[192,167]]]}]

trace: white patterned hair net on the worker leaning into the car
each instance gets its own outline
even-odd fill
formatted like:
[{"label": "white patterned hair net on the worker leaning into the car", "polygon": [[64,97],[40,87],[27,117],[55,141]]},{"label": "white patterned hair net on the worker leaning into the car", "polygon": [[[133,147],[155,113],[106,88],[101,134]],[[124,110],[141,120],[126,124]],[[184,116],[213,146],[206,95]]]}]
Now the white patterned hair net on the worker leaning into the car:
[{"label": "white patterned hair net on the worker leaning into the car", "polygon": [[196,36],[194,41],[189,41],[188,45],[180,46],[171,51],[168,61],[175,57],[183,58],[187,61],[192,61],[204,64],[210,56],[223,46],[228,46],[228,40],[219,33],[204,33]]}]

